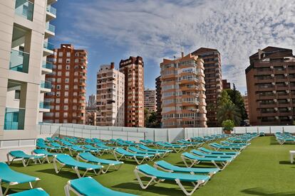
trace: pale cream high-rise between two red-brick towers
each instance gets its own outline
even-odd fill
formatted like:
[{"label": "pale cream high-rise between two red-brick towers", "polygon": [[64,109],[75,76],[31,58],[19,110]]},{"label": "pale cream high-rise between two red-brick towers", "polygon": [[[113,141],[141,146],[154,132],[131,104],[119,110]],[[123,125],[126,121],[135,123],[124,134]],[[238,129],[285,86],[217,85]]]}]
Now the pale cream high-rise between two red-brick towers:
[{"label": "pale cream high-rise between two red-brick towers", "polygon": [[101,65],[97,75],[98,126],[124,126],[125,75],[115,70],[113,62]]}]

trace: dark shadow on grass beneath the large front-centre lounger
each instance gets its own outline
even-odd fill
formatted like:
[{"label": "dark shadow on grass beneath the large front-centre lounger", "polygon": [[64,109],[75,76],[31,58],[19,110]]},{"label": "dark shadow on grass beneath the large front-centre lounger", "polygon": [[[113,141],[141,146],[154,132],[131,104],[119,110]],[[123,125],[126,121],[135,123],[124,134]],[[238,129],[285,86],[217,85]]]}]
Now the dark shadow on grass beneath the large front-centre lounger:
[{"label": "dark shadow on grass beneath the large front-centre lounger", "polygon": [[[163,182],[162,182],[163,183]],[[173,187],[161,187],[161,186],[155,186],[154,184],[150,185],[147,189],[143,190],[141,189],[140,185],[136,181],[136,183],[120,183],[118,185],[115,185],[113,187],[122,188],[122,189],[129,189],[129,190],[143,190],[145,192],[152,192],[157,195],[183,195],[182,190],[180,190],[180,187],[178,185],[172,185]]]}]

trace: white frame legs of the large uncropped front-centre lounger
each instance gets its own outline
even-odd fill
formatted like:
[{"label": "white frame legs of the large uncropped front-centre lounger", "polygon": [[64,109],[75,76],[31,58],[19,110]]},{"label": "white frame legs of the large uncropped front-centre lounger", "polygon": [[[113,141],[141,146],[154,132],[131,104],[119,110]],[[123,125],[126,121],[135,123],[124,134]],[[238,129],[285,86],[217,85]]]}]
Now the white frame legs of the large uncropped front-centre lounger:
[{"label": "white frame legs of the large uncropped front-centre lounger", "polygon": [[[140,184],[140,187],[142,189],[147,189],[148,186],[153,182],[155,184],[157,183],[160,183],[160,182],[163,182],[165,181],[165,179],[158,179],[157,177],[153,176],[153,175],[147,175],[146,173],[143,173],[141,172],[140,170],[138,170],[138,168],[136,167],[135,170],[134,170],[134,174],[136,176],[136,178],[138,179],[138,183]],[[150,181],[148,181],[148,183],[146,185],[143,184],[143,181],[140,179],[140,174],[147,177],[147,178],[150,178]],[[182,183],[180,182],[179,179],[175,179],[175,182],[177,183],[177,185],[179,185],[180,189],[185,193],[185,195],[192,195],[195,190],[197,190],[198,187],[200,187],[201,185],[205,185],[208,181],[205,181],[205,180],[198,180],[197,182],[195,183],[192,183],[192,185],[194,186],[194,188],[188,192],[185,187],[183,187]]]}]

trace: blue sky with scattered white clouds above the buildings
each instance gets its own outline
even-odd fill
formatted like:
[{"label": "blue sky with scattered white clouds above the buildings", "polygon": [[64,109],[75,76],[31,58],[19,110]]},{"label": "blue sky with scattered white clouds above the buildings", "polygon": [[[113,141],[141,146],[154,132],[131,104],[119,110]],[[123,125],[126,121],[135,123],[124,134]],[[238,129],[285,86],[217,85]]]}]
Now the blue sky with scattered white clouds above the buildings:
[{"label": "blue sky with scattered white clouds above the buildings", "polygon": [[145,87],[155,88],[162,58],[217,48],[222,77],[246,91],[249,55],[268,45],[295,49],[295,0],[59,0],[56,47],[88,50],[87,94],[100,65],[140,55]]}]

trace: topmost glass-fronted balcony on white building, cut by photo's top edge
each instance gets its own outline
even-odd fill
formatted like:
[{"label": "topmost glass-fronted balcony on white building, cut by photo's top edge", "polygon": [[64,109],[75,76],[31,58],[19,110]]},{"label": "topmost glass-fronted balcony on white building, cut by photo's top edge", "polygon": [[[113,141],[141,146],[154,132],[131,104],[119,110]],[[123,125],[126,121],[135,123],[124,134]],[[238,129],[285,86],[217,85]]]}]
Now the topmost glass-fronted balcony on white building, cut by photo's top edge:
[{"label": "topmost glass-fronted balcony on white building, cut by photo's top edge", "polygon": [[16,0],[15,12],[29,21],[33,21],[33,3],[26,0]]}]

